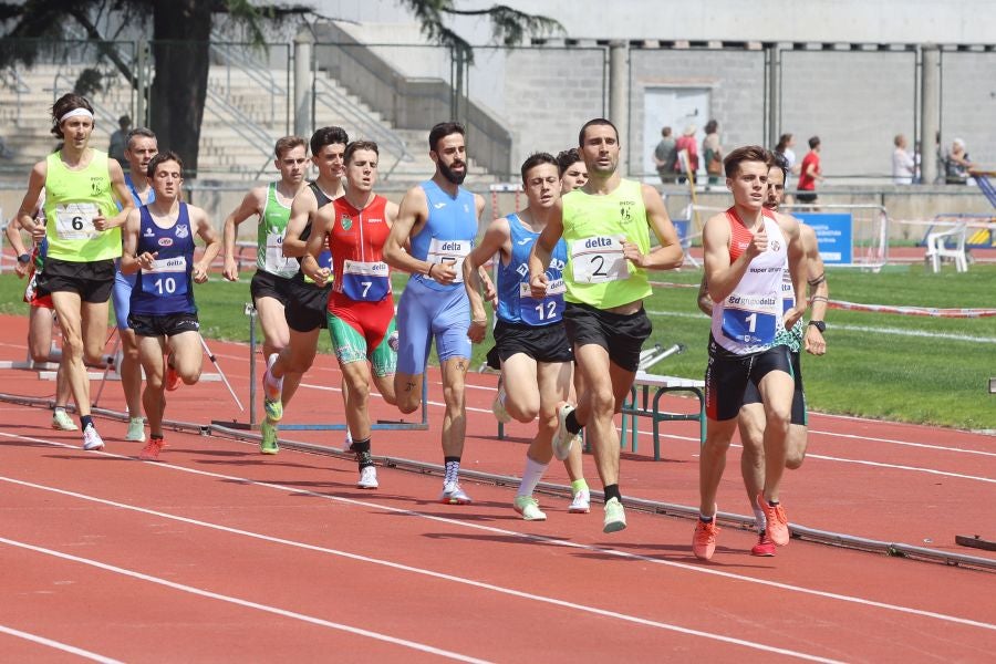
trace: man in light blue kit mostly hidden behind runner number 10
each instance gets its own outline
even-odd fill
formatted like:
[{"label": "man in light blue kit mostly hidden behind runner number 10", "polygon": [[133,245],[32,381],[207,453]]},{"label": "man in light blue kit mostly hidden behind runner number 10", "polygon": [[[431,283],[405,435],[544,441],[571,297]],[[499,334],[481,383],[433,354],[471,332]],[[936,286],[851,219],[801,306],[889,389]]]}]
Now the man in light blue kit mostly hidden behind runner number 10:
[{"label": "man in light blue kit mostly hidden behind runner number 10", "polygon": [[[125,143],[125,185],[132,194],[136,208],[152,203],[156,195],[148,181],[148,163],[159,153],[156,135],[152,129],[138,127],[127,134]],[[138,342],[135,331],[128,326],[132,289],[135,287],[134,274],[122,274],[118,261],[114,270],[114,318],[117,323],[117,335],[121,339],[121,362],[117,372],[121,374],[121,387],[124,391],[128,407],[128,432],[125,440],[145,442],[145,421],[142,417],[142,365],[138,362]],[[169,381],[167,380],[167,387]],[[176,388],[176,385],[173,385]]]}]

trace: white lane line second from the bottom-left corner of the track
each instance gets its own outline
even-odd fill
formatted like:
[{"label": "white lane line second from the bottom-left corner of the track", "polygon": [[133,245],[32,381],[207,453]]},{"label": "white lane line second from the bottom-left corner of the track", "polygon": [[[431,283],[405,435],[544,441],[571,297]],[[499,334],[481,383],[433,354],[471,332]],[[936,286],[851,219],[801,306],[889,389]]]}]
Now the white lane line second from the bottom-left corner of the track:
[{"label": "white lane line second from the bottom-left corner of the track", "polygon": [[328,620],[323,620],[321,618],[314,618],[312,615],[305,615],[303,613],[298,613],[295,611],[288,611],[286,609],[270,606],[268,604],[260,604],[259,602],[251,602],[249,600],[242,600],[239,598],[234,598],[234,596],[225,595],[225,594],[217,593],[217,592],[211,592],[209,590],[194,588],[193,585],[186,585],[185,583],[177,583],[175,581],[169,581],[167,579],[160,579],[159,577],[152,577],[149,574],[136,572],[134,570],[127,570],[125,568],[120,568],[117,566],[108,564],[106,562],[101,562],[98,560],[92,560],[90,558],[82,558],[80,556],[73,556],[71,553],[63,553],[62,551],[54,551],[52,549],[45,549],[44,547],[37,547],[34,544],[29,544],[27,542],[19,542],[17,540],[7,539],[6,537],[0,537],[0,543],[8,544],[11,547],[17,547],[19,549],[25,549],[28,551],[33,551],[35,553],[44,553],[45,556],[52,556],[54,558],[61,558],[63,560],[69,560],[72,562],[79,562],[81,564],[86,564],[90,567],[95,567],[97,569],[101,569],[101,570],[104,570],[107,572],[113,572],[115,574],[122,574],[124,577],[131,577],[133,579],[138,579],[141,581],[147,581],[149,583],[155,583],[157,585],[165,585],[166,588],[170,588],[173,590],[179,590],[181,592],[199,595],[203,598],[218,600],[221,602],[227,602],[229,604],[245,606],[247,609],[255,609],[257,611],[264,611],[267,613],[272,613],[276,615],[280,615],[282,618],[290,618],[292,620],[299,620],[299,621],[315,624],[315,625],[319,625],[322,627],[330,627],[330,629],[339,630],[342,632],[349,632],[350,634],[356,634],[359,636],[365,636],[367,639],[374,639],[376,641],[383,641],[385,643],[401,645],[404,647],[421,651],[421,652],[428,653],[432,655],[439,655],[440,657],[456,660],[457,662],[475,662],[475,663],[486,663],[487,662],[487,660],[478,660],[476,657],[470,657],[470,656],[461,655],[459,653],[455,653],[452,651],[433,647],[430,645],[425,645],[423,643],[417,643],[415,641],[408,641],[407,639],[398,639],[396,636],[390,636],[387,634],[382,634],[380,632],[372,632],[370,630],[363,630],[360,627],[354,627],[352,625],[331,622]]}]

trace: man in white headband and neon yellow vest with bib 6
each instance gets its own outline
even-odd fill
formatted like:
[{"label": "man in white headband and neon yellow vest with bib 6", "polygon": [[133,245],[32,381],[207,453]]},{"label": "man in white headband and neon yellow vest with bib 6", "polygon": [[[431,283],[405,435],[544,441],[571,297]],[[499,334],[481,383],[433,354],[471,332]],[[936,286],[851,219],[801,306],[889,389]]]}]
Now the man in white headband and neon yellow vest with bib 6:
[{"label": "man in white headband and neon yellow vest with bib 6", "polygon": [[[83,362],[84,357],[94,364],[102,361],[121,226],[134,205],[117,162],[90,147],[93,106],[85,97],[69,93],[55,101],[52,134],[63,141],[62,148],[32,168],[18,221],[34,235],[33,214],[44,188],[49,253],[38,287],[52,294],[62,328],[62,352],[69,355],[66,376],[80,413],[83,449],[101,449],[104,440],[90,414],[90,380]],[[116,215],[115,199],[122,205]]]}]

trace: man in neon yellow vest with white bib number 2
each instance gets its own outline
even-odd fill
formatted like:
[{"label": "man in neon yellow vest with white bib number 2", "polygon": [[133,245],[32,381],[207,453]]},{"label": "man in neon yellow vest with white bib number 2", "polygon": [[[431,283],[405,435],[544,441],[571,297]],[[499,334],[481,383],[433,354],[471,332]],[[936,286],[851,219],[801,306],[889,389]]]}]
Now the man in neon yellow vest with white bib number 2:
[{"label": "man in neon yellow vest with white bib number 2", "polygon": [[[573,344],[582,391],[577,407],[561,404],[553,450],[566,456],[582,427],[594,450],[605,494],[603,530],[626,527],[619,489],[619,432],[612,422],[630,393],[640,350],[651,322],[643,299],[651,293],[647,270],[682,264],[682,248],[660,194],[622,179],[619,132],[604,118],[589,121],[578,137],[589,180],[554,206],[529,257],[535,297],[549,287],[547,266],[561,237],[567,242],[563,322]],[[650,230],[660,242],[651,249]]]}]

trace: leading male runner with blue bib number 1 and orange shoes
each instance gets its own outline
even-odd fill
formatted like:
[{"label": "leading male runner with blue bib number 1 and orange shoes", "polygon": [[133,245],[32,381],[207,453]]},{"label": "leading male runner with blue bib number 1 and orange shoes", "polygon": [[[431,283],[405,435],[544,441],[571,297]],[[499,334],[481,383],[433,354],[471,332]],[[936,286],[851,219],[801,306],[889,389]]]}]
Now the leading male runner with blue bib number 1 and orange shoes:
[{"label": "leading male runner with blue bib number 1 and orange shoes", "polygon": [[[787,544],[789,539],[779,486],[795,382],[788,349],[778,345],[776,339],[805,311],[795,294],[805,293],[806,266],[799,224],[764,207],[771,165],[771,154],[761,147],[733,151],[724,167],[734,205],[710,217],[703,229],[705,278],[709,298],[716,302],[706,370],[706,442],[698,466],[702,504],[692,539],[693,552],[703,560],[709,560],[716,549],[716,490],[751,380],[767,419],[764,487],[754,501],[765,513],[767,537],[777,546]],[[793,305],[784,310],[786,263]]]}]

